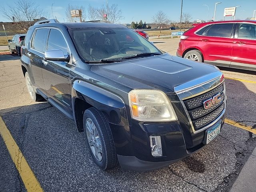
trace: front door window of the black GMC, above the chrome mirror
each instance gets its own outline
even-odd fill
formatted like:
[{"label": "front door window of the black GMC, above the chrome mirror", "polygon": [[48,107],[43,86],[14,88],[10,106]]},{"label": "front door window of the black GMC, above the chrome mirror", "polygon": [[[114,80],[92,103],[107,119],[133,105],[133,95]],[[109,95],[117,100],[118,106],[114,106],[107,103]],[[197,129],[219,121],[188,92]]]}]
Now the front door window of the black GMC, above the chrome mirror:
[{"label": "front door window of the black GMC, above the chrome mirror", "polygon": [[62,50],[64,55],[68,55],[68,46],[59,30],[51,29],[46,50]]}]

